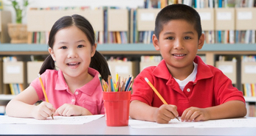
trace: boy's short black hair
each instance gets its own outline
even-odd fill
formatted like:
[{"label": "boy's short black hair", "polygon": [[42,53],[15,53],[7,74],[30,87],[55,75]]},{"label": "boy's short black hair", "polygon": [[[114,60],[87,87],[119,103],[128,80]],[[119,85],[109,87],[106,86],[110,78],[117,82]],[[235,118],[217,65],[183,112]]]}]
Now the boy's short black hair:
[{"label": "boy's short black hair", "polygon": [[155,32],[157,39],[162,31],[163,25],[172,20],[184,20],[189,24],[194,25],[196,32],[198,33],[198,39],[201,37],[201,19],[198,12],[190,6],[185,4],[170,4],[163,8],[156,16]]}]

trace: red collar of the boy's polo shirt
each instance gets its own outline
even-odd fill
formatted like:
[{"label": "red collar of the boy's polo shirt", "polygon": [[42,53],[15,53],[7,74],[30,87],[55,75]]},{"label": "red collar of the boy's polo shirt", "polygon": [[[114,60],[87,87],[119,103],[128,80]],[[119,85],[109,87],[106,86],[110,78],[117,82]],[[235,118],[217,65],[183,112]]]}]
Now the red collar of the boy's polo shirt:
[{"label": "red collar of the boy's polo shirt", "polygon": [[[198,64],[198,72],[196,75],[196,81],[200,79],[208,79],[213,76],[212,71],[210,70],[210,67],[206,65],[203,60],[201,60],[201,57],[196,56],[194,59],[194,62]],[[153,76],[159,77],[161,79],[172,79],[172,75],[170,74],[165,60],[162,60],[159,62],[159,65],[156,66],[156,68],[152,72]],[[195,81],[195,82],[196,82]]]}]

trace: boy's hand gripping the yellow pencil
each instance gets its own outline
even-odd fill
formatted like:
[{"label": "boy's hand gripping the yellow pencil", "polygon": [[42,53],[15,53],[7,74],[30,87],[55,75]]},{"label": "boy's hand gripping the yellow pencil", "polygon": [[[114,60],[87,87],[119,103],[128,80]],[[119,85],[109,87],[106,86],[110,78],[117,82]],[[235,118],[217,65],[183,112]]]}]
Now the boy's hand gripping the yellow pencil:
[{"label": "boy's hand gripping the yellow pencil", "polygon": [[171,104],[162,104],[161,107],[156,108],[153,113],[153,119],[159,124],[168,124],[169,121],[178,117],[177,107]]}]

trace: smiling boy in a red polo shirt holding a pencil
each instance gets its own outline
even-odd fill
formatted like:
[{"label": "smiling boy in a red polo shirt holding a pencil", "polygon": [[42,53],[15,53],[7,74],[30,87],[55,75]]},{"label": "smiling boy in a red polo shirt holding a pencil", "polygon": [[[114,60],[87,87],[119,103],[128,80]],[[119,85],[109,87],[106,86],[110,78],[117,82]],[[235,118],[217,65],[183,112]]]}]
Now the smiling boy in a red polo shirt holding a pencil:
[{"label": "smiling boy in a red polo shirt holding a pencil", "polygon": [[[145,68],[134,80],[131,118],[167,124],[207,121],[246,115],[243,93],[218,68],[206,65],[197,50],[204,45],[198,12],[184,4],[172,4],[156,16],[153,46],[163,60]],[[156,87],[163,104],[145,81]]]}]

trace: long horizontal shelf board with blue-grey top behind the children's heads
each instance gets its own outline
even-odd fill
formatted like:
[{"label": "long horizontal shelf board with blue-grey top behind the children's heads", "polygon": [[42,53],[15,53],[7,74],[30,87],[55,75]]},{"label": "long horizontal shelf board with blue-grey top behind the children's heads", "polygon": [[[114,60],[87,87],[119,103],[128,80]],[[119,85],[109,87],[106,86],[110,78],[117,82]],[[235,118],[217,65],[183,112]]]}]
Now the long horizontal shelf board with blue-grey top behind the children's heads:
[{"label": "long horizontal shelf board with blue-grey top behind the children's heads", "polygon": [[[159,54],[152,44],[144,43],[127,43],[127,44],[117,44],[117,43],[105,43],[98,44],[97,51],[102,54]],[[205,44],[198,53],[204,52],[246,52],[246,54],[255,54],[256,45],[255,44]],[[11,44],[11,43],[1,43],[0,44],[0,54],[10,55],[10,54],[49,54],[48,45],[46,44]]]}]

